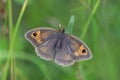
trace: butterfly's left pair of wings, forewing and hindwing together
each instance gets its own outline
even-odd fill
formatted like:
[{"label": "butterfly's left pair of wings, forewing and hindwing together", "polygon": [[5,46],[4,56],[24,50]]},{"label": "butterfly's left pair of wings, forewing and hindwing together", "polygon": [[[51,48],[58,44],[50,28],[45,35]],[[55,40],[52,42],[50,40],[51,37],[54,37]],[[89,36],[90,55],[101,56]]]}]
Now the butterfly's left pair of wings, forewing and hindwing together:
[{"label": "butterfly's left pair of wings, forewing and hindwing together", "polygon": [[25,33],[26,39],[35,47],[38,56],[52,60],[55,55],[54,44],[57,31],[50,28],[35,28]]}]

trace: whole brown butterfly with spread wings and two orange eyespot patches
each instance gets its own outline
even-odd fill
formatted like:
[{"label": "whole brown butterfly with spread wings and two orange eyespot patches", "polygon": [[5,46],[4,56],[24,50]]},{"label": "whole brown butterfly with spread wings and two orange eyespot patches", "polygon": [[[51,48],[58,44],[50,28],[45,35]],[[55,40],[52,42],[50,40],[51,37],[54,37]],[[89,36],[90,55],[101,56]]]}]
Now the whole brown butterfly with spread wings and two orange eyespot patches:
[{"label": "whole brown butterfly with spread wings and two orange eyespot patches", "polygon": [[34,46],[37,55],[61,66],[70,66],[92,58],[88,46],[77,37],[65,33],[65,29],[40,27],[27,31],[25,38]]}]

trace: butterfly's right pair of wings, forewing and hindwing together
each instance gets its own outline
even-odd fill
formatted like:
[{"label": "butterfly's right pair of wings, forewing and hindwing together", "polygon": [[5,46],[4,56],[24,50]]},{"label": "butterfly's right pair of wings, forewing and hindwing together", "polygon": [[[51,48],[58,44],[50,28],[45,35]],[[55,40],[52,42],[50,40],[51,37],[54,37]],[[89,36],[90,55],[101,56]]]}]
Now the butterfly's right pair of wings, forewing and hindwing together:
[{"label": "butterfly's right pair of wings, forewing and hindwing together", "polygon": [[55,62],[62,66],[70,66],[75,61],[87,60],[92,57],[89,48],[74,36],[66,35],[61,49],[55,55]]}]

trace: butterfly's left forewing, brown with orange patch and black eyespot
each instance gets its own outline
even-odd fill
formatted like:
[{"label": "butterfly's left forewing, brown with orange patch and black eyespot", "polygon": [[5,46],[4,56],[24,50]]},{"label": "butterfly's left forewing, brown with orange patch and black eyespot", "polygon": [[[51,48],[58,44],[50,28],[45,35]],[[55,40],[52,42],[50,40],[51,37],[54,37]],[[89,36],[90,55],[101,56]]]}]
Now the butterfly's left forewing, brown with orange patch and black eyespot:
[{"label": "butterfly's left forewing, brown with orange patch and black eyespot", "polygon": [[43,41],[56,37],[57,31],[51,28],[35,28],[25,33],[25,38],[34,46],[38,47]]}]

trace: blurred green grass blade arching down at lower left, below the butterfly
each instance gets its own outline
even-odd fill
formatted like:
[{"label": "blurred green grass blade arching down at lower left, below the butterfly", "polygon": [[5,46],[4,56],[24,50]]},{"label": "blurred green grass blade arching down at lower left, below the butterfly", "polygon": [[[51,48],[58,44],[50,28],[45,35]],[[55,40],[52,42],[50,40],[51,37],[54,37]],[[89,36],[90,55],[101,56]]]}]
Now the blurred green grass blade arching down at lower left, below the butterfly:
[{"label": "blurred green grass blade arching down at lower left, below the butterfly", "polygon": [[[1,52],[0,52],[1,53]],[[7,51],[5,53],[8,53]],[[21,60],[28,60],[28,61],[31,61],[33,62],[38,68],[40,71],[42,71],[42,73],[47,76],[47,79],[48,80],[52,80],[50,74],[49,74],[49,70],[47,69],[47,66],[37,57],[33,56],[33,55],[30,55],[30,54],[26,54],[24,52],[17,52],[18,54],[15,55],[16,59],[21,59]],[[1,54],[0,54],[1,56]],[[4,54],[3,57],[1,58],[2,60],[5,60],[7,59],[7,54]],[[40,64],[39,64],[39,63]]]}]

